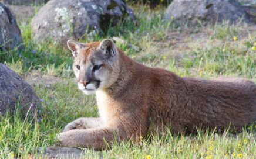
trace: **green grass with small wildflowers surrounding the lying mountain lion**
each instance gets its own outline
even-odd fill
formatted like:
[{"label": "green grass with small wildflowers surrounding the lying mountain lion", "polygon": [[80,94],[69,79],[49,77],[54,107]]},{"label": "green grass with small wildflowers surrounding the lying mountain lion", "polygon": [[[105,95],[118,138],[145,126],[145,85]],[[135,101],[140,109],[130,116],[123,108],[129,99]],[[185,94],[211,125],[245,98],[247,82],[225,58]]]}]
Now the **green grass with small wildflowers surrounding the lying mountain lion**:
[{"label": "green grass with small wildflowers surrounding the lying mountain lion", "polygon": [[[149,10],[147,6],[133,6],[137,24],[126,21],[110,27],[103,36],[96,34],[82,42],[91,42],[120,37],[125,43],[117,46],[140,63],[160,67],[181,76],[211,78],[218,76],[245,77],[256,82],[256,32],[247,32],[241,24],[215,26],[194,26],[193,29],[176,26],[174,20],[163,21],[163,9]],[[30,22],[30,20],[28,20]],[[35,154],[36,147],[46,147],[54,143],[57,133],[78,117],[96,117],[95,96],[82,94],[72,81],[71,53],[63,46],[36,43],[32,40],[29,23],[20,23],[25,49],[0,52],[0,62],[5,63],[19,74],[40,72],[62,77],[53,85],[38,85],[36,94],[43,99],[45,110],[42,117],[24,119],[15,115],[1,117],[0,158],[28,158]],[[255,26],[254,26],[255,27]],[[177,49],[172,44],[171,32],[196,34],[208,30],[206,37],[193,39],[184,37],[187,43]],[[247,33],[244,36],[244,33]],[[242,36],[243,35],[243,36]],[[177,34],[179,36],[179,34]],[[233,37],[238,37],[233,41]],[[175,36],[176,38],[176,36]],[[179,38],[179,37],[177,37]],[[204,40],[201,43],[198,40]],[[130,47],[136,46],[136,47]],[[190,50],[186,50],[187,46]],[[139,49],[134,49],[139,48]],[[70,80],[71,79],[71,80]],[[251,125],[239,134],[208,131],[198,135],[180,134],[174,136],[168,131],[146,137],[140,144],[115,143],[112,150],[95,152],[86,150],[85,158],[256,158],[256,127]],[[40,154],[39,154],[40,155]]]}]

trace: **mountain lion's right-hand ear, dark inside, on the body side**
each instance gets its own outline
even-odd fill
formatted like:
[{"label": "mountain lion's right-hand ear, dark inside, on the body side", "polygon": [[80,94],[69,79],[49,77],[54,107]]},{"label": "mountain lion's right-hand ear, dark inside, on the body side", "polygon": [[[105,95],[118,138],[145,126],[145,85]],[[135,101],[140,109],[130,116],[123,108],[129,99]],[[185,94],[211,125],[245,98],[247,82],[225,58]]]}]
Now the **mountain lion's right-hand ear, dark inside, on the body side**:
[{"label": "mountain lion's right-hand ear, dark inside, on the body side", "polygon": [[114,42],[110,39],[102,40],[99,47],[103,50],[106,58],[110,58],[114,56],[114,54],[116,54],[116,46],[114,45]]}]

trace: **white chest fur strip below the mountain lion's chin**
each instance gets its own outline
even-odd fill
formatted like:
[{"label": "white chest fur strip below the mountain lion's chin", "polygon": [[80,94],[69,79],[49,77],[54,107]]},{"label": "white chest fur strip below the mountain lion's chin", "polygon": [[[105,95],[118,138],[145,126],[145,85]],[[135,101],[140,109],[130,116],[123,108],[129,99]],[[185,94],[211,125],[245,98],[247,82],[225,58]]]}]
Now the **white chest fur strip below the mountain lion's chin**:
[{"label": "white chest fur strip below the mountain lion's chin", "polygon": [[107,121],[109,121],[108,95],[106,94],[105,91],[98,90],[96,91],[96,100],[97,100],[97,106],[99,109],[100,119],[102,119],[103,123],[107,123]]}]

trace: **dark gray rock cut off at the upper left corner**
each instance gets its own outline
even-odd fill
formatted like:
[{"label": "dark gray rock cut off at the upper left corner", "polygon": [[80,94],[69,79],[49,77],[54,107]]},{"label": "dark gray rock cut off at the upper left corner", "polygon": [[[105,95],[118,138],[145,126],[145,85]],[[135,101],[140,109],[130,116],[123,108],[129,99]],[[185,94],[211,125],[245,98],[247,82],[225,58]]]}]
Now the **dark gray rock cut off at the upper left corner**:
[{"label": "dark gray rock cut off at the upper left corner", "polygon": [[11,50],[16,46],[21,46],[21,44],[21,31],[15,16],[8,6],[0,2],[0,51]]}]

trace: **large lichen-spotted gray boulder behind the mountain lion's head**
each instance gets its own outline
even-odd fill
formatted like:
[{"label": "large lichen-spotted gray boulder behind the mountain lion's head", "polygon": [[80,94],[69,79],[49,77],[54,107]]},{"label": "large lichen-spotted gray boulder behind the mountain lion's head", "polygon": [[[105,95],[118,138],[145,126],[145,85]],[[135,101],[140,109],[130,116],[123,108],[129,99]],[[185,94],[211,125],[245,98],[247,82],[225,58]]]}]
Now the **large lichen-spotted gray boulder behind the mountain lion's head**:
[{"label": "large lichen-spotted gray boulder behind the mountain lion's head", "polygon": [[135,19],[124,0],[51,0],[32,19],[33,37],[56,43],[80,39],[89,31],[106,32],[124,18]]}]

